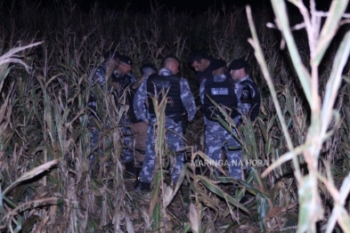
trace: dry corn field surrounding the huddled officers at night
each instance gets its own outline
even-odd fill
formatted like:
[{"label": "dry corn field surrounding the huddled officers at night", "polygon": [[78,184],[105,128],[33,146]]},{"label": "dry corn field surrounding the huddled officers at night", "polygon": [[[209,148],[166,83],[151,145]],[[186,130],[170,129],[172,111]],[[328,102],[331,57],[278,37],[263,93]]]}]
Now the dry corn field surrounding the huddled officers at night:
[{"label": "dry corn field surrounding the huddled officers at night", "polygon": [[[0,3],[1,232],[350,232],[348,1],[332,1],[329,12],[314,0],[288,7],[272,0],[273,9],[222,5],[196,15],[157,2],[147,12],[98,4],[83,12],[74,1],[58,2]],[[198,107],[190,52],[227,63],[243,56],[262,95],[256,121],[237,129],[243,160],[265,164],[252,165],[243,180],[215,177],[213,167],[196,173],[191,162],[208,159],[199,111],[171,186],[172,152],[161,136],[167,100],[156,98],[153,187],[135,191],[120,156],[128,107],[106,84],[95,121],[100,166],[91,175],[90,80],[110,48],[134,60],[136,77],[143,63],[159,67],[174,53]],[[235,127],[228,116],[221,122]]]}]

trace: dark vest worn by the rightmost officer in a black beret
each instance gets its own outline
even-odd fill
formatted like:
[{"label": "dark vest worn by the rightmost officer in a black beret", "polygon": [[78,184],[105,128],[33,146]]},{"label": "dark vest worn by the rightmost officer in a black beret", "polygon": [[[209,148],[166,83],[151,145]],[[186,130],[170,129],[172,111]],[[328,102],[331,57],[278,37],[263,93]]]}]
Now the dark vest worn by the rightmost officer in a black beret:
[{"label": "dark vest worn by the rightmost officer in a black beret", "polygon": [[[244,80],[240,82],[242,86],[242,93],[240,95],[240,102],[250,104],[250,120],[254,121],[256,116],[259,115],[260,110],[260,93],[257,90],[256,84],[251,80]],[[253,96],[253,90],[255,92],[255,96]]]}]

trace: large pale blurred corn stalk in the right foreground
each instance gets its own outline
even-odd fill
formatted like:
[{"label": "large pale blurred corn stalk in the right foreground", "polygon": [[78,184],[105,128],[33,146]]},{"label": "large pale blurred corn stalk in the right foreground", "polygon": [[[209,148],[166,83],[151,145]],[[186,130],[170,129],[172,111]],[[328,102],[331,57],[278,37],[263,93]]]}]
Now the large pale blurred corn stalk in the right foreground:
[{"label": "large pale blurred corn stalk in the right foreground", "polygon": [[[253,38],[249,39],[249,43],[256,51],[256,60],[258,60],[260,67],[263,69],[265,79],[269,85],[270,91],[273,95],[273,102],[275,104],[279,120],[283,127],[283,133],[289,145],[289,152],[280,157],[273,165],[271,165],[263,176],[271,172],[273,168],[278,167],[281,163],[292,159],[295,166],[295,176],[297,178],[298,197],[299,197],[299,222],[298,232],[316,232],[316,222],[323,218],[323,207],[321,197],[318,190],[318,181],[322,181],[327,189],[330,191],[336,207],[333,209],[332,218],[329,222],[327,232],[334,228],[334,224],[338,221],[339,225],[346,232],[350,232],[350,228],[345,223],[349,219],[349,215],[344,213],[344,201],[341,197],[347,196],[349,190],[340,189],[340,192],[332,185],[331,177],[324,177],[319,173],[319,157],[322,150],[322,143],[330,138],[333,130],[330,129],[330,124],[333,120],[338,121],[338,112],[333,110],[334,102],[338,94],[338,88],[341,81],[341,73],[346,65],[346,60],[350,52],[349,36],[350,32],[346,33],[342,43],[338,48],[333,69],[327,82],[326,94],[324,99],[321,99],[319,94],[319,75],[318,66],[324,53],[326,52],[331,39],[336,35],[339,27],[339,22],[346,10],[348,1],[334,1],[330,6],[328,18],[321,29],[321,34],[318,28],[321,28],[320,15],[315,9],[315,2],[311,1],[311,13],[307,12],[305,5],[300,1],[292,1],[304,17],[303,26],[306,28],[310,46],[310,66],[311,74],[305,68],[300,59],[297,46],[289,28],[289,20],[287,18],[286,5],[283,1],[273,0],[273,11],[276,15],[277,27],[281,30],[283,38],[289,48],[291,60],[296,68],[300,83],[305,92],[305,98],[311,108],[311,123],[306,132],[306,138],[303,144],[297,148],[290,140],[289,132],[285,124],[284,118],[281,114],[281,107],[279,101],[275,98],[275,90],[273,87],[272,78],[266,67],[266,61],[263,56],[261,46],[256,35],[256,28],[254,26],[250,8],[247,7],[247,14],[249,20],[249,27]],[[307,164],[308,174],[302,176],[300,173],[297,156],[303,154],[305,163]],[[346,182],[346,181],[344,181]],[[345,183],[344,183],[345,184]],[[316,214],[315,214],[316,213]],[[342,214],[340,214],[342,213]]]}]

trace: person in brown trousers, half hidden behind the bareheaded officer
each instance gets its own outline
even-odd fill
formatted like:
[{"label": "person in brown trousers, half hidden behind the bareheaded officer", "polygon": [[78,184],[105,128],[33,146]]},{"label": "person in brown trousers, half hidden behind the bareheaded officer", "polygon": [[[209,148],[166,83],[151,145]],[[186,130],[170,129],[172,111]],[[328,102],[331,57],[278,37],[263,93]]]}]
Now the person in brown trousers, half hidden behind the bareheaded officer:
[{"label": "person in brown trousers, half hidden behind the bareheaded officer", "polygon": [[[157,68],[151,64],[146,63],[142,65],[140,68],[140,72],[142,76],[137,79],[136,82],[132,83],[128,87],[127,93],[127,103],[129,105],[129,118],[131,122],[131,128],[133,130],[133,138],[134,138],[134,157],[135,157],[135,173],[136,173],[136,182],[135,187],[138,186],[139,181],[139,173],[141,172],[144,153],[146,149],[146,140],[147,140],[147,128],[148,125],[137,118],[134,114],[134,94],[140,87],[140,84],[144,81],[144,79],[148,78],[154,73],[157,73]],[[146,103],[144,103],[146,104]]]}]

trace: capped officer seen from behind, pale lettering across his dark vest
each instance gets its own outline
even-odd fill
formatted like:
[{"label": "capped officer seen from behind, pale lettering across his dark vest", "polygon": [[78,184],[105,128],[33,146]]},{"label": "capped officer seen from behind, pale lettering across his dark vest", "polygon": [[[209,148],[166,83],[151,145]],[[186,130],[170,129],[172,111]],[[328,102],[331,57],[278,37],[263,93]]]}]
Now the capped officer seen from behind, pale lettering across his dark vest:
[{"label": "capped officer seen from behind, pale lettering across his dark vest", "polygon": [[[232,178],[241,179],[241,169],[239,163],[241,150],[231,150],[239,147],[240,143],[229,133],[217,120],[217,116],[224,116],[215,107],[211,100],[224,108],[233,122],[237,125],[240,114],[237,110],[238,100],[235,93],[235,85],[232,78],[224,75],[226,62],[224,60],[213,60],[211,65],[213,79],[204,80],[199,87],[200,101],[204,113],[204,123],[206,125],[206,155],[220,165],[221,149],[224,146],[229,165],[229,174]],[[233,133],[236,133],[232,129]]]}]

